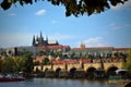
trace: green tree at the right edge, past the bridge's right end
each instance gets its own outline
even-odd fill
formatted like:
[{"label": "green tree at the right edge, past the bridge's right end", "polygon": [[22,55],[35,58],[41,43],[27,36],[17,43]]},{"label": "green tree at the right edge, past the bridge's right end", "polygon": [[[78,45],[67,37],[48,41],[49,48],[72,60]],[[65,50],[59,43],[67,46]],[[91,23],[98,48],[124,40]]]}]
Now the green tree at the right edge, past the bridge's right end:
[{"label": "green tree at the right edge, past the bridge's right end", "polygon": [[129,50],[127,62],[123,63],[123,67],[131,73],[131,49]]}]

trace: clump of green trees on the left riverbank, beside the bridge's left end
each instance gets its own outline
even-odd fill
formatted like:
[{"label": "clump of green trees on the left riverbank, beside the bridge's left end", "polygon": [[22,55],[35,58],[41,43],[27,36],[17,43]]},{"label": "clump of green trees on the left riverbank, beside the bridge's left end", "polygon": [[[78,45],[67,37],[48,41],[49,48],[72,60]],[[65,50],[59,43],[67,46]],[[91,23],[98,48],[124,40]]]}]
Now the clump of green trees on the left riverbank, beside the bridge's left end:
[{"label": "clump of green trees on the left riverbank, beside the bridge's left end", "polygon": [[0,59],[0,73],[32,73],[34,69],[32,53],[22,57],[4,57]]}]

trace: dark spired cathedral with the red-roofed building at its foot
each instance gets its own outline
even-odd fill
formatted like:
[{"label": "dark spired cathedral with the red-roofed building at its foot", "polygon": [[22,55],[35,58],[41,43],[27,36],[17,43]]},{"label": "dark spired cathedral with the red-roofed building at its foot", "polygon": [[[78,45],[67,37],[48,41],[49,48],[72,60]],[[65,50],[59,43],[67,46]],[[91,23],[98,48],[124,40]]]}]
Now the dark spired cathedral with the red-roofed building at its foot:
[{"label": "dark spired cathedral with the red-roofed building at its foot", "polygon": [[59,45],[57,40],[49,40],[48,37],[44,38],[41,32],[40,32],[39,37],[33,36],[33,47],[40,48],[45,51],[51,50],[51,51],[66,52],[70,50],[70,46]]}]

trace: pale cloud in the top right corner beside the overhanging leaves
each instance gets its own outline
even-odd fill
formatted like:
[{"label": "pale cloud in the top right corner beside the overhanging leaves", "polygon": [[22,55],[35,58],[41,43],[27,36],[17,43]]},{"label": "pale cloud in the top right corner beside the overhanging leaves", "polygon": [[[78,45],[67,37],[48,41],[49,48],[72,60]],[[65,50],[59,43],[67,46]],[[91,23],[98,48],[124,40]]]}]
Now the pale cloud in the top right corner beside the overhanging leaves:
[{"label": "pale cloud in the top right corner beside the overhanging leaves", "polygon": [[121,9],[131,9],[131,0],[128,0],[123,4],[118,4],[117,7],[111,7],[114,10],[121,10]]}]

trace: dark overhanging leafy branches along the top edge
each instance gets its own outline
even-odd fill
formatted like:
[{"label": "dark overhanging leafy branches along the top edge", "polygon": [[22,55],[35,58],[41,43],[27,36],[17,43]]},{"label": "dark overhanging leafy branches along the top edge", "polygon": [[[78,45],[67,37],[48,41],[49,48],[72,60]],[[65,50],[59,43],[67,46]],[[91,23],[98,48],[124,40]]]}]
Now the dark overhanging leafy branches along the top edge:
[{"label": "dark overhanging leafy branches along the top edge", "polygon": [[[1,2],[1,8],[3,10],[8,10],[12,4],[19,2],[21,5],[34,2],[39,0],[3,0]],[[43,0],[45,1],[45,0]],[[124,3],[128,0],[47,0],[51,2],[53,5],[63,5],[66,8],[66,16],[74,15],[83,15],[87,13],[87,15],[92,15],[93,13],[105,12],[105,10],[110,9],[110,7],[116,7],[119,3]]]}]

